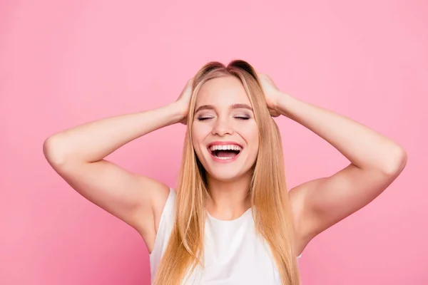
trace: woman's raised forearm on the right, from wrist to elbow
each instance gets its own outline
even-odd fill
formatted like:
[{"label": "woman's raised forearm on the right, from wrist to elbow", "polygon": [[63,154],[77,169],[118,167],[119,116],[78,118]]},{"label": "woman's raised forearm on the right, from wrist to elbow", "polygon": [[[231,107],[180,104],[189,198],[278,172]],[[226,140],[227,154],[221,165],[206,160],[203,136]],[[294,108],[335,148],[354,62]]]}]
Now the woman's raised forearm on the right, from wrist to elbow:
[{"label": "woman's raised forearm on the right, from wrist to elbow", "polygon": [[397,143],[343,115],[283,93],[277,110],[325,139],[361,169],[390,173],[405,163],[405,152]]}]

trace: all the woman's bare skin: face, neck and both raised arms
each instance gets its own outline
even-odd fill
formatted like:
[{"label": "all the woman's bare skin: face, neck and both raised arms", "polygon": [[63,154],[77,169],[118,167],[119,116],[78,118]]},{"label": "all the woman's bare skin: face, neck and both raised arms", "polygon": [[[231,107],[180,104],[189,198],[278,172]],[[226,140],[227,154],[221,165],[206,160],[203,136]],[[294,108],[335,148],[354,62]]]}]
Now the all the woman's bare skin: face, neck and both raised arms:
[{"label": "all the woman's bare skin: face, neck and both raised arms", "polygon": [[[290,190],[296,227],[297,252],[320,232],[361,209],[380,195],[402,172],[407,154],[389,138],[365,125],[280,91],[269,76],[259,74],[266,105],[272,116],[284,115],[319,135],[342,153],[350,164],[330,177],[320,177]],[[147,133],[175,123],[186,123],[193,79],[178,99],[161,108],[104,118],[63,130],[47,138],[44,155],[54,170],[80,195],[135,228],[150,253],[156,238],[169,187],[145,175],[129,172],[104,157]],[[250,203],[247,197],[251,165],[258,149],[258,133],[245,108],[249,104],[241,83],[234,78],[208,81],[197,107],[211,105],[198,115],[193,145],[208,172],[212,197],[207,210],[218,219],[235,219]],[[196,117],[198,117],[198,115]],[[328,127],[327,127],[328,126]],[[214,163],[206,145],[232,140],[244,150],[230,165]]]}]

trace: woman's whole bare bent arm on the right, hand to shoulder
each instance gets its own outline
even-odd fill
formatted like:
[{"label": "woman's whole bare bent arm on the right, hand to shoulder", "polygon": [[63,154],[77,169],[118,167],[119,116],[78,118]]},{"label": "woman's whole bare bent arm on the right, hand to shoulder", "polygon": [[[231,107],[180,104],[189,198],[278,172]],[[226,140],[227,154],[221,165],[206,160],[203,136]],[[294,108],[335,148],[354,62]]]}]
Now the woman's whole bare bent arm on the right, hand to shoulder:
[{"label": "woman's whole bare bent arm on the right, hand to shoulder", "polygon": [[[384,135],[330,110],[282,93],[260,74],[267,107],[312,130],[350,160],[350,165],[290,190],[298,252],[320,232],[380,195],[402,172],[407,153]],[[328,128],[326,127],[328,126]]]}]

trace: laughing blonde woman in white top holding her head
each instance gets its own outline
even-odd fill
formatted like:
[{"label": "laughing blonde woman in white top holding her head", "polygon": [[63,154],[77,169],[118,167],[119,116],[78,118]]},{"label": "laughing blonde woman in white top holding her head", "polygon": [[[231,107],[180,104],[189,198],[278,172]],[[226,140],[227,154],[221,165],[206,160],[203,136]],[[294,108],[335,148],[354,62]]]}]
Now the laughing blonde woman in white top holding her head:
[{"label": "laughing blonde woman in white top holding her head", "polygon": [[[288,192],[277,115],[320,135],[350,165]],[[188,126],[176,192],[104,160],[173,123]],[[44,155],[78,193],[141,234],[162,285],[300,284],[297,257],[308,242],[371,202],[407,162],[397,143],[282,93],[238,60],[207,63],[170,105],[52,135]]]}]

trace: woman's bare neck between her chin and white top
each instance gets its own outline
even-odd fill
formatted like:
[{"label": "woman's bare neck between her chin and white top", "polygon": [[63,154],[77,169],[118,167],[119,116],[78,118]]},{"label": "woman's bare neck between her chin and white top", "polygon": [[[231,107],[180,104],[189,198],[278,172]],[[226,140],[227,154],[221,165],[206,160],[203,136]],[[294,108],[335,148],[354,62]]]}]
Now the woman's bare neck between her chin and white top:
[{"label": "woman's bare neck between her chin and white top", "polygon": [[207,175],[210,197],[206,209],[217,219],[232,220],[240,217],[251,207],[248,191],[251,175],[243,175],[235,180],[222,181]]}]

